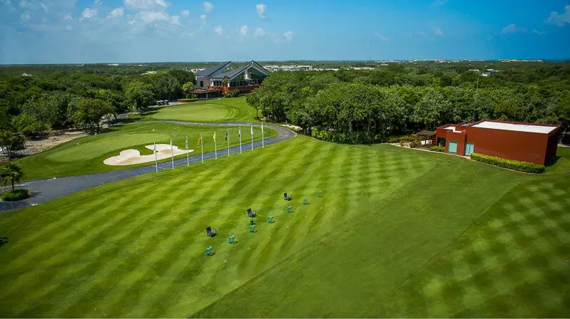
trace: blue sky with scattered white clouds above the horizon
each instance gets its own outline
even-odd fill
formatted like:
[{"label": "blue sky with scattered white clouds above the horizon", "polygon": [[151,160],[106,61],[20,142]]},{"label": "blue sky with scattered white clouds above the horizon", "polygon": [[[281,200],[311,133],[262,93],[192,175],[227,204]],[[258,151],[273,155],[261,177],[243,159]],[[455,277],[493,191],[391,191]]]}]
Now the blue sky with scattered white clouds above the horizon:
[{"label": "blue sky with scattered white clouds above the horizon", "polygon": [[570,0],[0,0],[0,63],[570,58]]}]

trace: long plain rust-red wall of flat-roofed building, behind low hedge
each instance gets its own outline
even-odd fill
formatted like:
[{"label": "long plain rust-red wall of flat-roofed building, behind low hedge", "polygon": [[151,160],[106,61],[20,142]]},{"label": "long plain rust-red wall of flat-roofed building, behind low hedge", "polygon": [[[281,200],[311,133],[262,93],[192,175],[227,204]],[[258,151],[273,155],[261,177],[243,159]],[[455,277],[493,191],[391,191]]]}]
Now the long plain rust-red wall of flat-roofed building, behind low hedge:
[{"label": "long plain rust-red wall of flat-roofed building, behind low hedge", "polygon": [[474,152],[536,164],[544,164],[546,160],[548,137],[531,132],[467,127],[467,142],[474,143]]}]

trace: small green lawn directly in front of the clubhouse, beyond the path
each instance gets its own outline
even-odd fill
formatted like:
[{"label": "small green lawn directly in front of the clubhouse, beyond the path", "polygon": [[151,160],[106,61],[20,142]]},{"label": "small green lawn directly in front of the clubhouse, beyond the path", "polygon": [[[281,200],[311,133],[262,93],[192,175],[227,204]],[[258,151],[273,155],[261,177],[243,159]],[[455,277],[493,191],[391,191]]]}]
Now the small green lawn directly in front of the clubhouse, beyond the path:
[{"label": "small green lawn directly in front of the clubhouse, beyond the path", "polygon": [[129,115],[136,120],[179,120],[186,122],[259,122],[255,109],[245,97],[220,98],[183,105],[153,108],[150,112]]}]

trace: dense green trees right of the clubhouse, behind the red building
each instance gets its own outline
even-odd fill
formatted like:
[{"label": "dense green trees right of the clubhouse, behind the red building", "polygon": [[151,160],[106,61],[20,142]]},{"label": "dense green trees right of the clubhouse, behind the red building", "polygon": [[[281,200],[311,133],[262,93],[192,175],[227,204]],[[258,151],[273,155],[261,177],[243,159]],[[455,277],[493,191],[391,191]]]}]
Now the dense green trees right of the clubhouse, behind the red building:
[{"label": "dense green trees right of the clubhouse, behind the red building", "polygon": [[315,137],[345,143],[381,142],[391,135],[482,119],[556,124],[569,130],[569,63],[519,63],[489,77],[472,68],[423,63],[375,70],[278,71],[247,100],[271,121],[290,122]]}]

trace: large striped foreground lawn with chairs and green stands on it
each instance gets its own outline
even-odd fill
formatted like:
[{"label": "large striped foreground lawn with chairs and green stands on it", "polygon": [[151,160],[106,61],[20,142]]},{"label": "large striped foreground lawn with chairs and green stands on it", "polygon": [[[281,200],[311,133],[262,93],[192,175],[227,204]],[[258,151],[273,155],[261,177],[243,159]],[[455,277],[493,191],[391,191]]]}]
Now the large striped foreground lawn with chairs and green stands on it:
[{"label": "large striped foreground lawn with chairs and green stands on it", "polygon": [[299,136],[1,214],[0,317],[565,316],[559,155],[533,175]]}]

